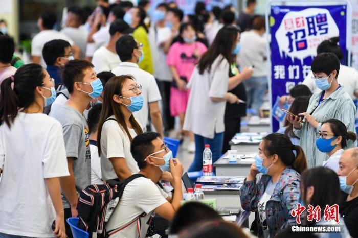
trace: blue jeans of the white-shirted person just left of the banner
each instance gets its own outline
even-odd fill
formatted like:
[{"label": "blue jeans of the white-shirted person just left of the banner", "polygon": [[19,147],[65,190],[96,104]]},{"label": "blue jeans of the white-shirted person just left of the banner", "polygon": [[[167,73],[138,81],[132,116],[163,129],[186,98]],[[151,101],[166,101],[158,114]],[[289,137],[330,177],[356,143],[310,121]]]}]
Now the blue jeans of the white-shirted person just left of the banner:
[{"label": "blue jeans of the white-shirted person just left of the banner", "polygon": [[256,114],[259,115],[262,106],[263,98],[267,88],[267,76],[251,77],[243,82],[248,94],[248,107],[255,109]]}]

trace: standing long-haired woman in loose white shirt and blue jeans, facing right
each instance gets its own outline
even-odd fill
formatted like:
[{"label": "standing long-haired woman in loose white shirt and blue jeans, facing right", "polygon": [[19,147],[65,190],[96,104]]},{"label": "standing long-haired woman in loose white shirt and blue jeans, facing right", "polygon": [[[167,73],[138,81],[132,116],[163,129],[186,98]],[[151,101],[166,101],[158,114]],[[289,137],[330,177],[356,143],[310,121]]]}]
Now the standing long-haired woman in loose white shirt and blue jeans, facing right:
[{"label": "standing long-haired woman in loose white shirt and blue jeans, facing right", "polygon": [[213,163],[221,155],[226,102],[239,101],[235,94],[228,92],[238,85],[237,78],[229,80],[229,68],[235,63],[239,41],[236,27],[221,28],[189,80],[190,95],[183,126],[194,133],[195,139],[195,157],[189,171],[202,170],[205,144],[210,145]]}]

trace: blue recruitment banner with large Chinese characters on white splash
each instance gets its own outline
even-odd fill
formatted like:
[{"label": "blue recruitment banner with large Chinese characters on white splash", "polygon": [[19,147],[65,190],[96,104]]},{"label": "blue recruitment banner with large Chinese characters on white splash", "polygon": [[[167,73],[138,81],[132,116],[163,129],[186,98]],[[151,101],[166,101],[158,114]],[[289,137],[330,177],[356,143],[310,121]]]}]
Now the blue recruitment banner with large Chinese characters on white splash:
[{"label": "blue recruitment banner with large Chinese characters on white splash", "polygon": [[[317,46],[326,39],[340,37],[344,52],[342,64],[347,65],[347,5],[334,6],[271,6],[269,30],[271,33],[272,108],[277,97],[288,94],[310,73]],[[273,132],[279,128],[280,115],[272,110]],[[281,121],[281,120],[280,120]]]}]

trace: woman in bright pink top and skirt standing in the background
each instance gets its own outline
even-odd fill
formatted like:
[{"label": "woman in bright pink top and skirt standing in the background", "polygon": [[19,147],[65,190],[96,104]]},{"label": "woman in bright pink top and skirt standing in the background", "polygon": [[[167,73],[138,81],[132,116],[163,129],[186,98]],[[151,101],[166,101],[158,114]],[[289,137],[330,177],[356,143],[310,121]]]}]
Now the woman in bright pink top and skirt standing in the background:
[{"label": "woman in bright pink top and skirt standing in the background", "polygon": [[[191,23],[183,23],[180,27],[178,41],[173,43],[167,55],[167,65],[173,75],[170,89],[170,113],[172,116],[180,117],[181,130],[183,128],[185,111],[189,99],[187,84],[193,73],[195,64],[198,62],[207,48],[203,43],[196,41],[196,33]],[[188,151],[195,151],[194,134],[182,132],[190,138]]]}]

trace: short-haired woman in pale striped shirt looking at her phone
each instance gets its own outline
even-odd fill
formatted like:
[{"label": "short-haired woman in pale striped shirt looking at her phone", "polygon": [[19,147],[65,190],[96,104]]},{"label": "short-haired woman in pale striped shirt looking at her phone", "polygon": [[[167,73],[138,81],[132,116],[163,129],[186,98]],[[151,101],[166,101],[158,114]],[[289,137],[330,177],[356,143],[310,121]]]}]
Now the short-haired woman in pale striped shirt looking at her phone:
[{"label": "short-haired woman in pale striped shirt looking at her phone", "polygon": [[[316,133],[320,131],[322,122],[337,119],[346,125],[348,131],[355,131],[356,112],[351,97],[337,81],[340,72],[337,56],[333,53],[317,55],[312,61],[311,70],[314,75],[312,80],[322,91],[312,95],[306,112],[299,113],[299,116],[286,117],[289,123],[293,124],[294,133],[300,138],[300,146],[310,167],[321,165],[328,159],[328,155],[319,151],[316,146]],[[355,141],[348,141],[347,148],[355,144]]]}]

